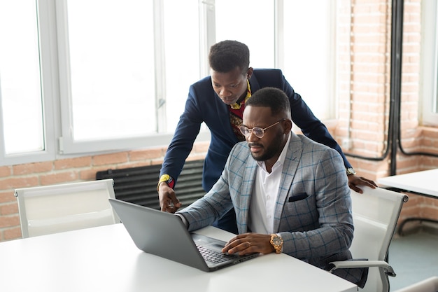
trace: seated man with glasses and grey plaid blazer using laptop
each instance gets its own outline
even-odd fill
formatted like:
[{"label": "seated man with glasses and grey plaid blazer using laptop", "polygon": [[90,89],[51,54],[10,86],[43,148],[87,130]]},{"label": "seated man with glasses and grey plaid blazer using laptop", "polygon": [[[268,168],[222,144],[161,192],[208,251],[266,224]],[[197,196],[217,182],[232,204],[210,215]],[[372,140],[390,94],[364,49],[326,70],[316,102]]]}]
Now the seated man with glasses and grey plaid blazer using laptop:
[{"label": "seated man with glasses and grey plaid blazer using laptop", "polygon": [[[341,155],[291,131],[290,103],[278,88],[248,99],[240,130],[246,141],[232,148],[220,179],[176,213],[188,230],[234,209],[239,235],[222,252],[283,252],[323,269],[351,259],[353,217]],[[361,272],[338,275],[355,282]]]}]

